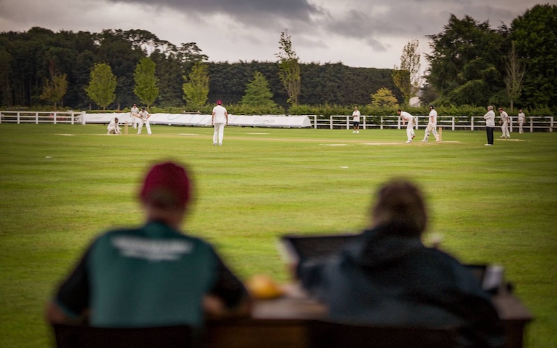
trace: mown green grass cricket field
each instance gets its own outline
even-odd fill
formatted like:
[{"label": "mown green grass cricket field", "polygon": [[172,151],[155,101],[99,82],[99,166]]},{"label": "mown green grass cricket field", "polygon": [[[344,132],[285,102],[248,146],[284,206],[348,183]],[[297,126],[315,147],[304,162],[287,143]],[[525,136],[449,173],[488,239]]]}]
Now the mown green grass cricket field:
[{"label": "mown green grass cricket field", "polygon": [[[444,131],[405,144],[405,129],[0,125],[0,347],[49,347],[42,310],[97,233],[142,223],[138,184],[154,161],[187,164],[196,205],[184,229],[217,246],[244,279],[288,282],[276,237],[356,232],[391,177],[425,191],[429,231],[462,262],[503,264],[535,319],[527,347],[557,347],[557,134]],[[427,235],[426,235],[427,239]]]}]

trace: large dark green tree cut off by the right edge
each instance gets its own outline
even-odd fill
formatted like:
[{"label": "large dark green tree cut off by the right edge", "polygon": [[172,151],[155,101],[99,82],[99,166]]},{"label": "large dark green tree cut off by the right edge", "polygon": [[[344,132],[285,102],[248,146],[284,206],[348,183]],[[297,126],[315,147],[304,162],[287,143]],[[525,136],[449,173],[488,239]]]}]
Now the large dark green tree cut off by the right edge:
[{"label": "large dark green tree cut off by the right edge", "polygon": [[557,5],[536,5],[515,18],[510,40],[527,72],[521,104],[557,107]]}]

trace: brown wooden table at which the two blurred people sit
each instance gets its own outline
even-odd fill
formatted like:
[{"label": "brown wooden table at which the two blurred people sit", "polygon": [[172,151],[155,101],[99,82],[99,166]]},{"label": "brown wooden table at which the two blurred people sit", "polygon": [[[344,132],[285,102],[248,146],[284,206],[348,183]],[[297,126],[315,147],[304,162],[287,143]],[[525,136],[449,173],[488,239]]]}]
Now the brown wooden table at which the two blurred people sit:
[{"label": "brown wooden table at which the two blurred people sit", "polygon": [[[508,348],[522,347],[524,329],[532,315],[512,294],[495,296],[494,305],[503,321]],[[327,318],[327,308],[299,287],[288,287],[278,299],[256,300],[251,317],[207,322],[207,347],[308,348],[308,327]]]}]

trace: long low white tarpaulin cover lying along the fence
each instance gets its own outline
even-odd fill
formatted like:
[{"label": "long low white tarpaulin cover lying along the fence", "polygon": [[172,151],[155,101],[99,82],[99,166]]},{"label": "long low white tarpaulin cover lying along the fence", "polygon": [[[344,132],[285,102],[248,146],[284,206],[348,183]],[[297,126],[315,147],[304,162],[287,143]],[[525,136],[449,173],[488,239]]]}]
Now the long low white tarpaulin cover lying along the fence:
[{"label": "long low white tarpaulin cover lying along the fence", "polygon": [[[132,122],[130,113],[85,113],[82,123],[109,123],[113,118],[118,118],[118,123]],[[184,126],[210,126],[211,115],[197,115],[185,113],[151,113],[151,125],[184,125]],[[228,115],[228,125],[254,126],[254,127],[311,127],[308,116],[273,116],[273,115]]]}]

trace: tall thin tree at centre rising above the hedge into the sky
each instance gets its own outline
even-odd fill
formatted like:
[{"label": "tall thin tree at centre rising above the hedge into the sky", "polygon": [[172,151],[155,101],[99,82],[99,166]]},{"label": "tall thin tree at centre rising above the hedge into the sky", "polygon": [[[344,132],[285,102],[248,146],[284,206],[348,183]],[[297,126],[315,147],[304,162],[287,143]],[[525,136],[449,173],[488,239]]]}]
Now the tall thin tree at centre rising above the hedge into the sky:
[{"label": "tall thin tree at centre rising above the hedge into the sky", "polygon": [[286,30],[278,40],[278,49],[278,54],[275,54],[278,58],[278,77],[288,93],[288,102],[297,105],[301,88],[299,58],[292,47],[292,38]]}]

